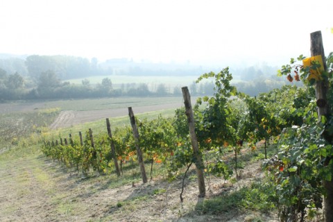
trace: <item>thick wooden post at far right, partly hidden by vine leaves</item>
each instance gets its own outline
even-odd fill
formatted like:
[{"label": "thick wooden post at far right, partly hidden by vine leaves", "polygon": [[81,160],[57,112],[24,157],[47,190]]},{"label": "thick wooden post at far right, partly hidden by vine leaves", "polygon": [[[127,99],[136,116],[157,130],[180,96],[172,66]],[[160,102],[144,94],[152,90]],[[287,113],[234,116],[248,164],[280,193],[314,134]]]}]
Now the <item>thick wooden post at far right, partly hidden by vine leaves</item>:
[{"label": "thick wooden post at far right, partly hidden by vine leaves", "polygon": [[[311,56],[321,55],[323,58],[323,68],[327,71],[326,61],[325,61],[325,52],[323,46],[323,37],[321,35],[321,31],[316,31],[310,34],[311,38]],[[316,81],[316,104],[317,104],[317,112],[318,112],[318,121],[321,121],[321,117],[325,116],[327,119],[330,117],[330,106],[327,103],[327,90],[329,83],[327,80],[318,80]],[[325,133],[323,133],[325,137]],[[332,138],[325,138],[328,142],[331,141]],[[330,158],[327,157],[325,164],[330,162]],[[326,191],[326,196],[324,196],[324,214],[325,221],[332,222],[333,221],[333,180],[326,181],[323,180],[323,186]]]}]

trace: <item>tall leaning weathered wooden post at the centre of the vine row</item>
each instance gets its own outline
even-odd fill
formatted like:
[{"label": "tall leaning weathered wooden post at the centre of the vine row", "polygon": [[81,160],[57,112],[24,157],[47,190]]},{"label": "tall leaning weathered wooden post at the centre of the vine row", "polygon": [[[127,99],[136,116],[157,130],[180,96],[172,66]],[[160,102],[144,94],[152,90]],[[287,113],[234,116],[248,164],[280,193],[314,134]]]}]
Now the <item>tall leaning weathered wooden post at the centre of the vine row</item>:
[{"label": "tall leaning weathered wooden post at the centre of the vine row", "polygon": [[196,160],[196,175],[198,176],[199,197],[204,197],[206,193],[205,178],[203,177],[203,157],[199,153],[198,139],[196,139],[196,130],[194,124],[194,114],[191,106],[191,96],[189,95],[189,89],[182,87],[182,96],[184,97],[184,104],[186,109],[187,121],[189,122],[189,134],[191,135],[191,144],[194,153],[194,159]]}]

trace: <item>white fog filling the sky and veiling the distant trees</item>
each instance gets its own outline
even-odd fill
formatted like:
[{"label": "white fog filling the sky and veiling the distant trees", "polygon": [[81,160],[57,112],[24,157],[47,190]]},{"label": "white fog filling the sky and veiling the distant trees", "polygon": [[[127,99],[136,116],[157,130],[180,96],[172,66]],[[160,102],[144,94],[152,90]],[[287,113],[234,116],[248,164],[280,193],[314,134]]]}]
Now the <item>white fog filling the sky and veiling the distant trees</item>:
[{"label": "white fog filling the sky and veiling the distant trees", "polygon": [[310,56],[310,33],[321,31],[326,54],[333,51],[332,6],[321,0],[1,1],[1,98],[119,96],[136,89],[178,94],[184,84],[200,95],[212,86],[195,86],[196,78],[225,67],[244,92],[267,92],[294,84],[276,71],[290,58]]}]

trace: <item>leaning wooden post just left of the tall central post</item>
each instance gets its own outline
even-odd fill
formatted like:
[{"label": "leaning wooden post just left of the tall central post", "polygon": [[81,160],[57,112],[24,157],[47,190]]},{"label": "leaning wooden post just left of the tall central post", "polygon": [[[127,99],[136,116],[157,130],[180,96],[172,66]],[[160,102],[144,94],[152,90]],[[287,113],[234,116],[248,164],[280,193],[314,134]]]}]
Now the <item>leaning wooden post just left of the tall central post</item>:
[{"label": "leaning wooden post just left of the tall central post", "polygon": [[133,129],[135,147],[137,148],[137,160],[139,161],[142,181],[146,183],[147,176],[146,176],[146,169],[144,169],[144,158],[142,157],[142,151],[139,146],[139,131],[137,130],[137,123],[135,123],[135,116],[131,107],[128,108],[128,115],[130,116],[130,125]]}]

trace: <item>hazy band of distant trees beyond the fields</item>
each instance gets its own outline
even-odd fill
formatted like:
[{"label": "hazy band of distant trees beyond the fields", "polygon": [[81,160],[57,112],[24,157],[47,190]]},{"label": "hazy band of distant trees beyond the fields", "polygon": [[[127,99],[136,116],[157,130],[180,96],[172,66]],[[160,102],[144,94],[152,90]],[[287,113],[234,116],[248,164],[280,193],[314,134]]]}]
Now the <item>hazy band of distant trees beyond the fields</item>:
[{"label": "hazy band of distant trees beyond the fields", "polygon": [[[80,99],[105,96],[181,96],[180,86],[168,88],[159,84],[149,89],[146,83],[122,84],[116,88],[107,76],[124,75],[195,75],[197,69],[176,65],[153,65],[139,63],[128,59],[112,59],[99,63],[96,58],[88,60],[74,56],[28,56],[22,58],[0,59],[0,100],[17,99]],[[160,67],[160,68],[158,68]],[[173,68],[178,68],[173,72]],[[185,70],[186,69],[186,70]],[[269,76],[272,67],[248,67],[237,69],[237,81],[232,83],[241,92],[257,96],[269,92],[287,83],[276,76]],[[276,70],[276,69],[275,69]],[[200,73],[202,73],[200,68]],[[88,76],[105,76],[101,83],[92,85]],[[70,78],[85,78],[82,84],[71,84]],[[192,96],[213,94],[214,83],[203,82],[189,85]]]}]

